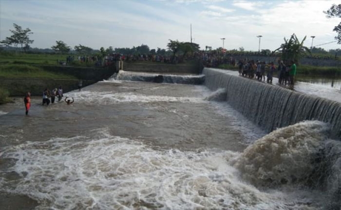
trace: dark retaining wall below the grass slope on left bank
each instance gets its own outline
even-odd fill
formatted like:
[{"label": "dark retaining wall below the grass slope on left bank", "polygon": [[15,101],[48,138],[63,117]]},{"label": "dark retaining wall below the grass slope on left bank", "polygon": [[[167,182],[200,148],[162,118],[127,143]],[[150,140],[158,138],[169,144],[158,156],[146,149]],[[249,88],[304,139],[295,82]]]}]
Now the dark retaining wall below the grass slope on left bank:
[{"label": "dark retaining wall below the grass slope on left bank", "polygon": [[[83,87],[97,82],[83,80]],[[76,79],[36,79],[36,78],[0,78],[0,87],[7,89],[11,96],[23,96],[26,92],[32,95],[42,95],[45,88],[53,90],[61,86],[64,92],[78,89]]]}]

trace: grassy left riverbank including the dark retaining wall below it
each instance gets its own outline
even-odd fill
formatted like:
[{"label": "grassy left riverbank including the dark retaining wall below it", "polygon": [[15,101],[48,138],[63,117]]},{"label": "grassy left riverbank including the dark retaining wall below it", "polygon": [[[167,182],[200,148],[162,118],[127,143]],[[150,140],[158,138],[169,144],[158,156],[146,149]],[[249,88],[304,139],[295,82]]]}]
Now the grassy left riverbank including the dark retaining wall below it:
[{"label": "grassy left riverbank including the dark retaining wall below it", "polygon": [[114,67],[84,68],[72,66],[1,64],[0,103],[10,101],[9,96],[23,96],[26,92],[41,95],[45,88],[62,87],[64,91],[78,88],[78,80],[85,87],[113,75]]}]

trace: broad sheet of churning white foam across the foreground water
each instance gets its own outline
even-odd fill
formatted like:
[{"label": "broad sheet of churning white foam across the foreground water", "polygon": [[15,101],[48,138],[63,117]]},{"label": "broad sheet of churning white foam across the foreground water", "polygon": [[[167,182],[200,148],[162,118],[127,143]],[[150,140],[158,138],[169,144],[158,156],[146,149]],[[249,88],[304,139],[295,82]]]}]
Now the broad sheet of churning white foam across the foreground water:
[{"label": "broad sheet of churning white foam across the foreground water", "polygon": [[[91,135],[91,136],[90,136]],[[264,192],[239,179],[239,153],[152,150],[105,130],[6,147],[21,174],[15,189],[48,209],[292,209],[313,206],[297,192]],[[11,182],[11,181],[8,181]],[[303,197],[300,197],[303,196]]]}]

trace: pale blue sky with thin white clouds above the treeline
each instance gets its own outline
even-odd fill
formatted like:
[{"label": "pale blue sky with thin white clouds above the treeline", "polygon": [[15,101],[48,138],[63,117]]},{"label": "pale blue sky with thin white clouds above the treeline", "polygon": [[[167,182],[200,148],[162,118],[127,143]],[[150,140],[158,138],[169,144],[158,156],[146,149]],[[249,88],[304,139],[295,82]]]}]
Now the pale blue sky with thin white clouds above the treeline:
[{"label": "pale blue sky with thin white clouds above the treeline", "polygon": [[[340,18],[323,11],[337,0],[0,0],[0,40],[13,23],[30,28],[31,47],[68,46],[167,48],[169,39],[190,41],[201,49],[223,47],[271,51],[295,33],[310,47],[335,41]],[[320,46],[341,48],[336,42]]]}]

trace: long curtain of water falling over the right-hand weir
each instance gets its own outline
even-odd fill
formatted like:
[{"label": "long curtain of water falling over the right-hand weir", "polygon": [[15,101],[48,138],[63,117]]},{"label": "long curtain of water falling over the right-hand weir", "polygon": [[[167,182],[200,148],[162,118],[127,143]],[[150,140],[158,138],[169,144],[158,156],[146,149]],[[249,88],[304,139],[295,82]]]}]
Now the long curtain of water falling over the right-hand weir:
[{"label": "long curtain of water falling over the right-hand weir", "polygon": [[303,120],[330,123],[332,138],[341,138],[341,103],[265,84],[218,69],[204,68],[204,84],[212,91],[227,90],[234,109],[271,132]]}]

